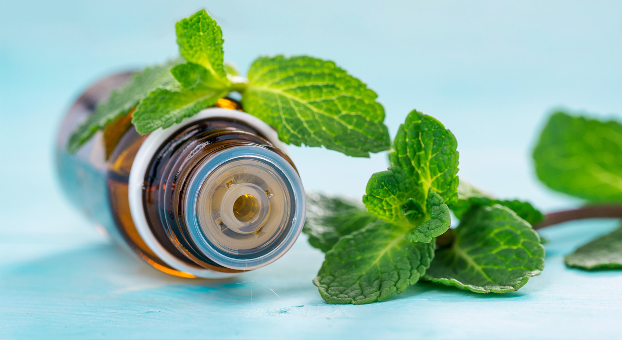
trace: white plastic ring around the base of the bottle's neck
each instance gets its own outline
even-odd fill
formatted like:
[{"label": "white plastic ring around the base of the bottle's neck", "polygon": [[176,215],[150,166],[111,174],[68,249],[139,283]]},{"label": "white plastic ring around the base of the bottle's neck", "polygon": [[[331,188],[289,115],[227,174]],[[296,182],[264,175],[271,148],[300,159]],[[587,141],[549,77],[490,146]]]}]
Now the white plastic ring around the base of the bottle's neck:
[{"label": "white plastic ring around the base of the bottle's neck", "polygon": [[180,272],[190,273],[195,277],[225,278],[236,275],[236,273],[217,272],[216,270],[206,269],[203,267],[199,267],[198,265],[187,264],[186,262],[177,259],[177,257],[173,256],[164,247],[162,247],[160,242],[157,241],[156,236],[154,236],[153,232],[151,232],[149,224],[147,224],[147,218],[145,216],[144,206],[142,204],[142,187],[144,185],[145,173],[147,172],[147,167],[149,167],[151,159],[160,148],[160,145],[162,145],[165,140],[172,136],[172,134],[178,131],[181,127],[187,126],[192,122],[200,121],[207,118],[227,118],[245,122],[249,126],[259,131],[259,133],[263,137],[265,137],[268,142],[271,142],[274,147],[277,147],[278,149],[282,150],[287,154],[285,144],[281,142],[281,140],[279,140],[277,132],[274,131],[272,127],[270,127],[268,124],[266,124],[266,122],[262,121],[258,117],[254,117],[248,113],[243,113],[241,111],[233,109],[204,109],[203,111],[200,111],[192,117],[183,119],[183,121],[179,124],[174,124],[170,127],[167,127],[166,129],[157,129],[156,131],[151,132],[149,136],[147,136],[145,141],[142,143],[140,149],[138,150],[136,158],[134,158],[134,162],[132,163],[132,168],[129,173],[129,209],[132,214],[132,221],[134,221],[136,230],[140,234],[142,240],[147,244],[147,247],[149,247],[149,249],[151,249],[154,254],[162,259],[162,261],[164,261],[172,269],[179,270]]}]

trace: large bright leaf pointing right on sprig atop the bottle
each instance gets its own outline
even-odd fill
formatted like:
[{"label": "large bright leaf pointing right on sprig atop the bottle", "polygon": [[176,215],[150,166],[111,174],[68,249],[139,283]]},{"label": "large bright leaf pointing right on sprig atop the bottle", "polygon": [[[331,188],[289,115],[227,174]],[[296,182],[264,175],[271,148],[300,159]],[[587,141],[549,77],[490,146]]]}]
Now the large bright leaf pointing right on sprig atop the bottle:
[{"label": "large bright leaf pointing right on sprig atop the bottle", "polygon": [[390,144],[384,108],[376,97],[333,62],[278,55],[253,62],[242,103],[285,143],[369,157]]}]

